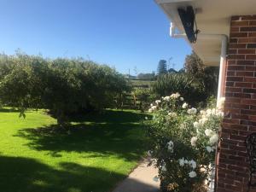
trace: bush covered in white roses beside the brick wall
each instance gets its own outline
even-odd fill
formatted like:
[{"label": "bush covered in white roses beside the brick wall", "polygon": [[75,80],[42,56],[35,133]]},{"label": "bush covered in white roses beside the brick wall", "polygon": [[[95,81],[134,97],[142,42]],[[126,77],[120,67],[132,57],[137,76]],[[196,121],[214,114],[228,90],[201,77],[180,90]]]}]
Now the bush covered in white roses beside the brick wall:
[{"label": "bush covered in white roses beside the brick wall", "polygon": [[224,113],[192,108],[178,93],[155,101],[148,112],[153,113],[148,119],[150,154],[162,191],[206,191]]}]

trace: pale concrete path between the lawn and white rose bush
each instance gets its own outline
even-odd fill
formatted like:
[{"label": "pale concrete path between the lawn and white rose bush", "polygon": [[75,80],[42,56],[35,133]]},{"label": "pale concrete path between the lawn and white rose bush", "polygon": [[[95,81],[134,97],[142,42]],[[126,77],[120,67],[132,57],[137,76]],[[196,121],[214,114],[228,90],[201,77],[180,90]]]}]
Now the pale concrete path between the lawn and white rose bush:
[{"label": "pale concrete path between the lawn and white rose bush", "polygon": [[158,170],[154,166],[148,166],[148,162],[148,159],[143,160],[113,192],[159,192],[160,181],[154,179]]}]

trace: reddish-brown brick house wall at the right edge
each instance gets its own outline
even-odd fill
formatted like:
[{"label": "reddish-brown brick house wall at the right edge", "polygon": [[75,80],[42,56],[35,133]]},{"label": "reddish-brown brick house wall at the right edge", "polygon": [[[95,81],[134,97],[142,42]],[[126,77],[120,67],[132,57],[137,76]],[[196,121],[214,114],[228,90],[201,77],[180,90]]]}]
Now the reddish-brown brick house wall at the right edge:
[{"label": "reddish-brown brick house wall at the right edge", "polygon": [[225,97],[217,192],[243,192],[249,177],[244,141],[256,131],[256,15],[231,18]]}]

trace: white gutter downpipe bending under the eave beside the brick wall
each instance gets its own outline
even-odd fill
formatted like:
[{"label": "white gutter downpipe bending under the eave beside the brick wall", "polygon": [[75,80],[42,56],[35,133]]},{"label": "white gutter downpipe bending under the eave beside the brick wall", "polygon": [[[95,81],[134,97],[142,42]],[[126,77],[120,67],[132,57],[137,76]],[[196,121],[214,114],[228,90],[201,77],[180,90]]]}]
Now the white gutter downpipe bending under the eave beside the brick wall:
[{"label": "white gutter downpipe bending under the eave beside the brick wall", "polygon": [[[177,33],[176,26],[171,22],[170,26],[170,36],[172,38],[187,38],[185,33]],[[218,96],[217,100],[219,101],[221,97],[224,96],[224,75],[225,75],[225,63],[226,63],[226,55],[227,55],[227,44],[228,37],[223,34],[198,34],[200,39],[221,39],[221,54],[219,61],[219,76],[218,76]]]}]

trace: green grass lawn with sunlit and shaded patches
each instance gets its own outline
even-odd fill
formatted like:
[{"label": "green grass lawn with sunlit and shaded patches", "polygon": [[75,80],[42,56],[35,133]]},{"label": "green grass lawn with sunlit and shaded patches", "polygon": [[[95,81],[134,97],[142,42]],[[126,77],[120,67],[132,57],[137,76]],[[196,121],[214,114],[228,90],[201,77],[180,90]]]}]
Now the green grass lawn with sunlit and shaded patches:
[{"label": "green grass lawn with sunlit and shaded patches", "polygon": [[43,111],[0,109],[0,191],[108,192],[145,149],[142,113],[76,116],[69,130]]}]

